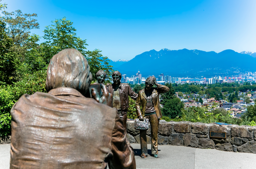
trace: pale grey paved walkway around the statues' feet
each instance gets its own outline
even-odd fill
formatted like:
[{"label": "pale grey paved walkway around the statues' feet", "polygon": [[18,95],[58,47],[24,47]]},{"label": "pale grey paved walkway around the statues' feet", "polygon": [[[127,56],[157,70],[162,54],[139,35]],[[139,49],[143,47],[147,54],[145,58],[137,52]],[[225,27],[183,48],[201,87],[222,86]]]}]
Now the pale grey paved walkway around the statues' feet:
[{"label": "pale grey paved walkway around the statues' feet", "polygon": [[[160,145],[159,158],[140,157],[140,144],[132,143],[137,169],[255,169],[256,154]],[[151,154],[148,144],[148,153]],[[0,169],[9,169],[10,144],[0,144]]]}]

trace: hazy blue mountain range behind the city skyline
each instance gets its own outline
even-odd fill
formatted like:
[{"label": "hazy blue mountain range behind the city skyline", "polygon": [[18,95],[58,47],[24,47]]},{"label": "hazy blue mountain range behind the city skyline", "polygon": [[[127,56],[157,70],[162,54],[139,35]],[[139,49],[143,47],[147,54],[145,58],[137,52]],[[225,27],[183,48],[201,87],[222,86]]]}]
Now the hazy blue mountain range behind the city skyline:
[{"label": "hazy blue mountain range behind the city skyline", "polygon": [[224,50],[220,53],[200,50],[162,49],[143,52],[132,60],[110,60],[114,70],[128,77],[139,70],[143,77],[161,73],[172,77],[212,77],[235,75],[241,72],[256,72],[255,52]]}]

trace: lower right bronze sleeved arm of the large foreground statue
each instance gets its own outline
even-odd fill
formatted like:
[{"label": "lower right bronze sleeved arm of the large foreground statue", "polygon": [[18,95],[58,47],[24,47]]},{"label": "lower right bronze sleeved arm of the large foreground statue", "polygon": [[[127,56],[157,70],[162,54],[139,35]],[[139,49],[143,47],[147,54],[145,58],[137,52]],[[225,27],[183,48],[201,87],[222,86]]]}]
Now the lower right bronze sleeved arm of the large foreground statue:
[{"label": "lower right bronze sleeved arm of the large foreground statue", "polygon": [[125,135],[122,120],[116,110],[115,126],[112,133],[113,157],[109,161],[110,169],[136,169],[134,151]]}]

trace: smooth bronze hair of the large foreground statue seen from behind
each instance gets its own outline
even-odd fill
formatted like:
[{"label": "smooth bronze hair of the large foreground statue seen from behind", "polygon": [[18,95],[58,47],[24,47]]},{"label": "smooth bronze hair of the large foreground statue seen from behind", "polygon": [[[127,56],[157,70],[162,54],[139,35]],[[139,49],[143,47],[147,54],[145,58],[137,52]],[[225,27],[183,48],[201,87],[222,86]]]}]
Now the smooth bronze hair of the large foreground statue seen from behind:
[{"label": "smooth bronze hair of the large foreground statue seen from behind", "polygon": [[45,89],[70,87],[84,95],[89,89],[92,74],[84,55],[76,49],[64,49],[55,54],[47,69]]}]

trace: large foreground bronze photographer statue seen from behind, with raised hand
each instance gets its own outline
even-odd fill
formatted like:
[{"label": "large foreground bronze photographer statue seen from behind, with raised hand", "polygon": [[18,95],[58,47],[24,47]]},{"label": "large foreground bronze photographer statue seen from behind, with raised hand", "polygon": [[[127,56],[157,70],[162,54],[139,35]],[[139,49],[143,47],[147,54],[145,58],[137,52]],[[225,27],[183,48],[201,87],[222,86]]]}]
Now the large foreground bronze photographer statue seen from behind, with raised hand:
[{"label": "large foreground bronze photographer statue seen from behind, with raised hand", "polygon": [[[92,74],[76,49],[55,54],[46,90],[23,95],[12,107],[10,169],[135,169],[122,120],[103,85],[103,96],[84,97]],[[107,100],[107,101],[106,101]]]}]

